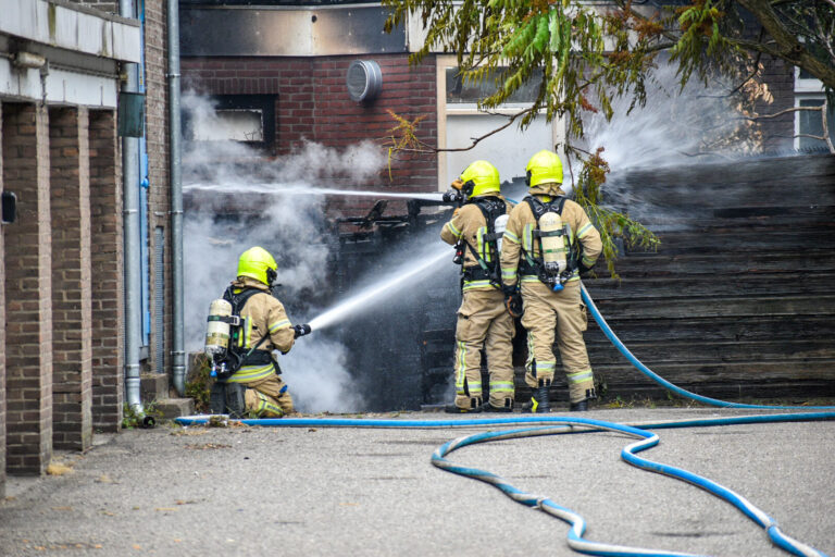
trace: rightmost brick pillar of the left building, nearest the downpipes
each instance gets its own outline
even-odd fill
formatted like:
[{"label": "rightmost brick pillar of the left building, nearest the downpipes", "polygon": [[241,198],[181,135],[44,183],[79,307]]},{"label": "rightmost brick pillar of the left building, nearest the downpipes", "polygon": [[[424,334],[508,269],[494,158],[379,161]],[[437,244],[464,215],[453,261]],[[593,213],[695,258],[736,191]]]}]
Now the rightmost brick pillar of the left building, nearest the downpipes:
[{"label": "rightmost brick pillar of the left building, nearest the downpipes", "polygon": [[89,113],[92,422],[119,431],[124,401],[122,156],[113,111]]}]

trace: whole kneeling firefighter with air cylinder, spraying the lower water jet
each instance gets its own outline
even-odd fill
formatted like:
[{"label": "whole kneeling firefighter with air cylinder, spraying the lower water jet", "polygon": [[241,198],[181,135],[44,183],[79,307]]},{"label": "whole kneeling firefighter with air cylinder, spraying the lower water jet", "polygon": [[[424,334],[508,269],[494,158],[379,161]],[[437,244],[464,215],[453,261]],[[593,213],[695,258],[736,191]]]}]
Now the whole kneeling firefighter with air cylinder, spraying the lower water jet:
[{"label": "whole kneeling firefighter with air cylinder, spraying the lower water jet", "polygon": [[284,306],[272,295],[275,259],[252,247],[238,260],[237,280],[212,301],[205,352],[212,359],[212,413],[281,418],[292,411],[273,350],[287,354],[310,325],[291,325]]}]

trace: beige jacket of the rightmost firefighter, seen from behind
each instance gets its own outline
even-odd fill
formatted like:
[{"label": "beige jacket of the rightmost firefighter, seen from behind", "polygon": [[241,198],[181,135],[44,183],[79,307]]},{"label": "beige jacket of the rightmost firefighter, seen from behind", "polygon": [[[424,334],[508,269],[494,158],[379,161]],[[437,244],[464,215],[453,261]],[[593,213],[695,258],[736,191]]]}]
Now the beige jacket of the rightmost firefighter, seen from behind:
[{"label": "beige jacket of the rightmost firefighter, seen from behind", "polygon": [[[565,194],[558,184],[539,184],[531,188],[529,193],[543,201],[550,201],[554,197]],[[582,263],[586,268],[594,267],[597,258],[603,249],[600,240],[600,233],[597,232],[586,211],[572,201],[565,200],[562,207],[562,222],[569,225],[569,242],[579,242],[583,246]],[[520,262],[527,252],[531,257],[539,257],[539,242],[533,237],[532,232],[537,228],[536,219],[531,211],[531,206],[526,201],[519,203],[510,213],[508,225],[504,230],[504,237],[501,246],[501,282],[506,285],[514,285],[520,280],[518,276]],[[523,252],[524,250],[524,252]],[[575,271],[569,281],[579,280],[579,272]],[[539,281],[535,274],[526,274],[521,277],[522,282]]]}]

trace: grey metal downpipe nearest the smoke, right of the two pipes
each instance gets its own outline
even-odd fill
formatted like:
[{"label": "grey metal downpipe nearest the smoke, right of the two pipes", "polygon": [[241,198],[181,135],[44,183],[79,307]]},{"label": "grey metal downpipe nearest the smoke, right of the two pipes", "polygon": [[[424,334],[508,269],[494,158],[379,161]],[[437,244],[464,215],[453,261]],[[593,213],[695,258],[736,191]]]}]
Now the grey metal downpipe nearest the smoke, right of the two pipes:
[{"label": "grey metal downpipe nearest the smoke, right of the two pipes", "polygon": [[179,82],[179,2],[169,0],[169,177],[171,178],[172,250],[172,381],[177,394],[186,394],[186,350],[183,276],[183,177]]}]

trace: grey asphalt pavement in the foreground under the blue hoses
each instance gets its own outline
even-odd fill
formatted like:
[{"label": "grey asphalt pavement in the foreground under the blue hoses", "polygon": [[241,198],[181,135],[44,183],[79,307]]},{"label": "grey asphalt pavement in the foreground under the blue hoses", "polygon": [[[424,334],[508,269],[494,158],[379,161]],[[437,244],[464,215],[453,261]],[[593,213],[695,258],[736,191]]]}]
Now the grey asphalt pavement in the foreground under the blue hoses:
[{"label": "grey asphalt pavement in the foreground under the blue hoses", "polygon": [[[764,413],[777,412],[582,416],[646,423]],[[444,443],[498,429],[162,424],[99,434],[86,454],[58,454],[55,474],[8,479],[0,555],[578,555],[566,544],[564,522],[431,463]],[[835,421],[658,433],[659,446],[643,456],[735,491],[788,535],[835,555]],[[633,441],[613,432],[550,435],[473,445],[448,458],[578,512],[594,541],[700,555],[788,555],[730,504],[625,463],[620,453]]]}]

